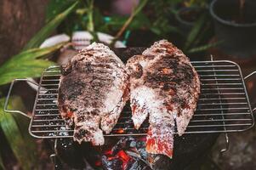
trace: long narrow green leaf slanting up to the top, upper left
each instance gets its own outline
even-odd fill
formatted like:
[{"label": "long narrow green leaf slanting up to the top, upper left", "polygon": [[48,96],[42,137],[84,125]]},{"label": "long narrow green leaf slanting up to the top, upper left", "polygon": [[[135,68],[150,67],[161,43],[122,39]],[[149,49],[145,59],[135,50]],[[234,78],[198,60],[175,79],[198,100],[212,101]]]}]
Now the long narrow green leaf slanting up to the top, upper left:
[{"label": "long narrow green leaf slanting up to the top, upper left", "polygon": [[71,7],[65,9],[63,13],[58,14],[53,20],[49,21],[46,26],[44,26],[37,34],[31,38],[31,40],[26,44],[25,48],[37,48],[39,45],[47,38],[54,29],[60,25],[60,23],[65,20],[65,17],[70,14],[74,8],[76,8],[78,2],[75,2],[71,5]]}]

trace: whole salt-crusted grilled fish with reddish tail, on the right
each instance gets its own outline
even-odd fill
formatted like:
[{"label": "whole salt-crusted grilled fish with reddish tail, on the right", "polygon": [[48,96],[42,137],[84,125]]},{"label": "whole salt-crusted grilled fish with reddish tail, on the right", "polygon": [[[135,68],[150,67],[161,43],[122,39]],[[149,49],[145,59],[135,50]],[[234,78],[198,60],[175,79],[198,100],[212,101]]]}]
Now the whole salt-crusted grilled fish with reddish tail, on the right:
[{"label": "whole salt-crusted grilled fish with reddish tail, on the right", "polygon": [[180,136],[196,110],[199,77],[185,54],[166,40],[128,59],[127,66],[134,127],[149,115],[146,150],[172,157],[175,122]]}]

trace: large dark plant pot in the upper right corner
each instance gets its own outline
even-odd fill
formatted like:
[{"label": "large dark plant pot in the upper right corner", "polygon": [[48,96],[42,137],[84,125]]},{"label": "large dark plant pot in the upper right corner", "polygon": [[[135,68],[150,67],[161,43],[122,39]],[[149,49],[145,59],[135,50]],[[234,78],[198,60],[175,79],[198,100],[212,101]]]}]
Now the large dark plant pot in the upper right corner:
[{"label": "large dark plant pot in the upper right corner", "polygon": [[255,8],[254,0],[213,0],[210,14],[222,52],[236,58],[256,55]]}]

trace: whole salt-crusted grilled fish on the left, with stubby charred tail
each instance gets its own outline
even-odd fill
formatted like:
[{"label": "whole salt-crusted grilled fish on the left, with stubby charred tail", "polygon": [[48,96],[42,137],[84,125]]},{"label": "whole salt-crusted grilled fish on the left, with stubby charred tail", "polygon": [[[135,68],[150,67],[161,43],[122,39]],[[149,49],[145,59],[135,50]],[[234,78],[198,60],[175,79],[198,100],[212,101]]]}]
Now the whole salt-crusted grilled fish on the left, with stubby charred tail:
[{"label": "whole salt-crusted grilled fish on the left, with stubby charred tail", "polygon": [[[104,144],[128,99],[128,74],[110,48],[94,42],[63,67],[58,104],[73,139]],[[100,129],[101,127],[101,129]]]}]

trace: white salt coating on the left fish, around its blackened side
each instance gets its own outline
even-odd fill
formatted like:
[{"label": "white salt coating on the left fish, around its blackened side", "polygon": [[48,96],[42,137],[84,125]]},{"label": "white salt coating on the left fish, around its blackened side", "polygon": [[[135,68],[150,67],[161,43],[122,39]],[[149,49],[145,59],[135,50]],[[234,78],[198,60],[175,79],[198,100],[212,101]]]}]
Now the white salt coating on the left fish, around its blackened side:
[{"label": "white salt coating on the left fish, around its blackened side", "polygon": [[[87,55],[88,53],[91,53],[93,55]],[[120,116],[120,113],[122,111],[123,106],[126,103],[126,100],[128,99],[127,96],[124,96],[125,89],[128,85],[128,75],[125,71],[125,66],[122,63],[122,60],[117,57],[117,55],[111,51],[110,48],[105,46],[102,43],[92,43],[86,48],[83,48],[76,56],[74,56],[71,59],[72,62],[80,62],[82,65],[85,65],[85,63],[89,62],[90,65],[94,68],[94,65],[99,65],[99,59],[101,58],[108,58],[108,59],[114,59],[116,63],[108,62],[107,65],[109,68],[104,68],[105,71],[111,72],[111,74],[107,75],[107,77],[114,77],[111,82],[111,87],[105,88],[106,91],[103,91],[102,94],[95,94],[100,97],[101,103],[103,105],[100,105],[100,107],[97,107],[97,109],[100,111],[100,116],[94,116],[90,117],[89,121],[85,122],[79,122],[77,119],[76,113],[84,113],[84,112],[91,112],[94,111],[94,107],[87,107],[84,108],[84,105],[81,105],[79,102],[84,99],[84,96],[78,95],[77,99],[73,101],[65,100],[65,105],[71,105],[71,108],[77,108],[77,111],[73,114],[73,119],[75,122],[75,126],[79,127],[79,129],[96,129],[96,131],[91,131],[92,135],[89,139],[77,139],[74,137],[74,140],[77,140],[77,142],[81,143],[82,141],[91,141],[94,145],[102,145],[104,144],[104,137],[103,137],[103,131],[105,133],[110,133],[112,128],[116,125],[117,120]],[[104,60],[104,59],[103,59]],[[103,63],[105,64],[105,63]],[[95,68],[96,69],[96,68]],[[99,67],[97,69],[100,69]],[[80,73],[81,74],[81,73]],[[83,73],[82,73],[83,74]],[[62,81],[62,78],[60,78],[60,81]],[[97,77],[95,77],[94,82],[100,81],[97,80]],[[89,83],[88,83],[89,84]],[[87,90],[87,89],[84,89]],[[81,92],[82,93],[82,92]],[[88,98],[90,99],[90,98]],[[69,108],[68,108],[69,111]],[[95,128],[98,127],[98,128]],[[101,127],[101,129],[99,128]]]}]

